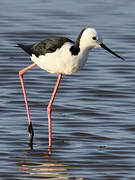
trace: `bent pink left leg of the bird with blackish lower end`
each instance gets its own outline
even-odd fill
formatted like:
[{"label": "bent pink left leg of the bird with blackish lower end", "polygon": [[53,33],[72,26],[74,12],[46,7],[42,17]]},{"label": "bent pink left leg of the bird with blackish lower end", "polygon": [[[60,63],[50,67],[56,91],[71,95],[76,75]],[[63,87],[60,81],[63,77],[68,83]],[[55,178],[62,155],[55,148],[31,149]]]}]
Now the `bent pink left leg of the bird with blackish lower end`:
[{"label": "bent pink left leg of the bird with blackish lower end", "polygon": [[30,140],[32,142],[33,140],[33,136],[34,136],[34,131],[32,128],[32,122],[30,119],[30,113],[29,113],[29,106],[28,106],[28,101],[27,101],[27,95],[26,95],[26,91],[25,91],[25,87],[24,87],[24,81],[23,81],[23,74],[28,71],[29,69],[33,68],[36,64],[33,63],[30,66],[26,67],[25,69],[19,71],[19,78],[21,81],[21,85],[22,85],[22,90],[23,90],[23,94],[24,94],[24,100],[25,100],[25,104],[26,104],[26,110],[27,110],[27,116],[28,116],[28,131],[29,131],[29,137]]}]

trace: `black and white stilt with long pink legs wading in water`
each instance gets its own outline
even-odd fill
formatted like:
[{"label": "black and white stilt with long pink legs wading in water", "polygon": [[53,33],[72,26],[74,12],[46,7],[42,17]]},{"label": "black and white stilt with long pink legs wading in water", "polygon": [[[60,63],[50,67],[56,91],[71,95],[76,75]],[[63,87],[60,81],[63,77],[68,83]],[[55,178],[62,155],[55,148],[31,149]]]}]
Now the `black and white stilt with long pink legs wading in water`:
[{"label": "black and white stilt with long pink legs wading in water", "polygon": [[59,74],[51,100],[47,107],[48,127],[49,127],[49,148],[52,146],[51,110],[52,104],[60,84],[63,74],[73,74],[82,69],[87,61],[88,53],[93,48],[104,48],[116,57],[124,60],[107,46],[103,44],[102,36],[93,28],[83,29],[76,41],[66,37],[52,37],[32,45],[18,44],[26,53],[29,54],[33,64],[19,71],[24,99],[28,115],[28,129],[30,139],[33,139],[34,131],[30,119],[26,91],[24,88],[23,74],[35,65],[50,73]]}]

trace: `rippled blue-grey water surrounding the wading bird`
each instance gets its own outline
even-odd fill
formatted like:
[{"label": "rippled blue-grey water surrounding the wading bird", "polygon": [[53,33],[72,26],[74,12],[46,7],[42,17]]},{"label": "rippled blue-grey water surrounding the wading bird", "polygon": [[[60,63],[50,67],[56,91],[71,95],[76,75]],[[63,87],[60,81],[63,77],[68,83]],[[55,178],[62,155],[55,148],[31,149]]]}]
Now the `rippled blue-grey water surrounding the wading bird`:
[{"label": "rippled blue-grey water surrounding the wading bird", "polygon": [[[135,179],[134,7],[133,0],[1,0],[0,179]],[[27,72],[32,150],[18,77],[31,61],[15,45],[55,35],[75,40],[88,26],[127,61],[96,49],[82,71],[63,76],[53,106],[51,154],[46,107],[57,77],[38,67]]]}]

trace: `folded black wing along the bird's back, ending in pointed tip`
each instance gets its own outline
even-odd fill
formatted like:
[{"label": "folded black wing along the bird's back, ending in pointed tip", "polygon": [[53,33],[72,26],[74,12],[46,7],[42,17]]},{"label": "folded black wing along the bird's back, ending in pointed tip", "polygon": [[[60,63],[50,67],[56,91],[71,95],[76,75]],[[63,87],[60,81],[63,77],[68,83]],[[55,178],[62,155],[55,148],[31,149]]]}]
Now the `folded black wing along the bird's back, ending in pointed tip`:
[{"label": "folded black wing along the bird's back, ending in pointed tip", "polygon": [[32,45],[17,45],[18,47],[21,47],[25,52],[27,52],[30,56],[34,54],[36,57],[39,57],[40,55],[45,55],[46,53],[52,53],[56,51],[56,49],[61,48],[61,46],[66,42],[74,43],[72,40],[65,37],[53,37]]}]

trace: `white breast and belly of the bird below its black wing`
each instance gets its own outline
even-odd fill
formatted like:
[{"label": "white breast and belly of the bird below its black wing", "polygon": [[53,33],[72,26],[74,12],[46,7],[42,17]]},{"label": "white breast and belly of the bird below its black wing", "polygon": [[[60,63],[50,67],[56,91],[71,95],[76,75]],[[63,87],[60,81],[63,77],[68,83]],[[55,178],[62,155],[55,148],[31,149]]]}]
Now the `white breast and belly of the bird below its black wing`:
[{"label": "white breast and belly of the bird below its black wing", "polygon": [[77,56],[70,52],[71,43],[65,43],[62,48],[53,53],[47,53],[38,58],[32,54],[31,59],[41,69],[56,74],[72,74],[79,71],[85,64],[88,50],[80,51]]}]

